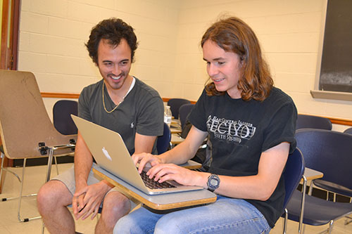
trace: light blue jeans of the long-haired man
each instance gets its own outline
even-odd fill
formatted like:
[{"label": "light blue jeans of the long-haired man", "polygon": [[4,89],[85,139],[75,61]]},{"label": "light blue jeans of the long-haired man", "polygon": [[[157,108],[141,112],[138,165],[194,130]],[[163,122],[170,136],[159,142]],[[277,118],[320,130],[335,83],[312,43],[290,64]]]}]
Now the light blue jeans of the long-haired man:
[{"label": "light blue jeans of the long-haired man", "polygon": [[139,208],[116,223],[113,233],[269,233],[256,207],[241,199],[222,197],[203,207],[155,214]]}]

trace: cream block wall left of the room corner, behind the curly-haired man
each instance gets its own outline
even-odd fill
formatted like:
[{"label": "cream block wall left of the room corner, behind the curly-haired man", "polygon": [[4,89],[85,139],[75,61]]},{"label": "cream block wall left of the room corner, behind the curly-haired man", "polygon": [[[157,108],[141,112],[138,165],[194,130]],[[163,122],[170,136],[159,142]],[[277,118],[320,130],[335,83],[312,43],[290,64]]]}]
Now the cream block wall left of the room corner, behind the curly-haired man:
[{"label": "cream block wall left of the room corner, behind the curly-haired man", "polygon": [[[139,41],[131,74],[167,96],[173,79],[179,2],[172,0],[23,0],[18,70],[33,72],[44,92],[80,93],[101,79],[84,43],[97,22],[122,18]],[[51,116],[55,98],[44,98]]]}]

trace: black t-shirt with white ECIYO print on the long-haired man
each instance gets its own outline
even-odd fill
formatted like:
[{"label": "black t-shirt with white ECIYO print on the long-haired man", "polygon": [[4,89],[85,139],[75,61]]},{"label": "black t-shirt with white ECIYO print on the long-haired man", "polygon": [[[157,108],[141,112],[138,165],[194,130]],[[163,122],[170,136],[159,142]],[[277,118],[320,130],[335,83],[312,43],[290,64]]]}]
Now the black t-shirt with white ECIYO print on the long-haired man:
[{"label": "black t-shirt with white ECIYO print on the long-haired man", "polygon": [[[282,142],[296,148],[294,132],[297,110],[293,100],[280,89],[273,88],[263,101],[223,96],[207,96],[203,91],[189,121],[201,131],[208,131],[213,145],[209,172],[226,176],[258,174],[260,155]],[[284,178],[265,202],[247,200],[275,226],[284,202]]]}]

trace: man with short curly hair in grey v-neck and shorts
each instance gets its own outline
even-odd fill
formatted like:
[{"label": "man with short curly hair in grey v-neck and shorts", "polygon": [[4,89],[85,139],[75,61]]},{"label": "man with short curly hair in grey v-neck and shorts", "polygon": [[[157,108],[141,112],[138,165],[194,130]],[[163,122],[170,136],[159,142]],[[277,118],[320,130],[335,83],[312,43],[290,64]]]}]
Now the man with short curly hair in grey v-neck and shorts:
[{"label": "man with short curly hair in grey v-neck and shorts", "polygon": [[[158,92],[130,75],[137,49],[133,28],[117,18],[93,27],[86,44],[101,79],[80,94],[78,115],[118,132],[130,154],[156,152],[156,136],[163,134],[163,100]],[[98,136],[99,137],[99,136]],[[39,190],[37,204],[50,233],[75,233],[75,219],[98,214],[96,233],[112,233],[120,217],[135,206],[105,180],[92,173],[94,159],[78,132],[74,167]]]}]

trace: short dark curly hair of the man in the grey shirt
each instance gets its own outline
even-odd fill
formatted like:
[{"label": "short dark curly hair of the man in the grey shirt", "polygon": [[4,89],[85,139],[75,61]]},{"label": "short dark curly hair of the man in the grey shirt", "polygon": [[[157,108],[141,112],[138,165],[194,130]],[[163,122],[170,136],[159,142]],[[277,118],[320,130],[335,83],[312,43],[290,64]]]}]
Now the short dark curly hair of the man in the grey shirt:
[{"label": "short dark curly hair of the man in the grey shirt", "polygon": [[136,51],[138,43],[136,34],[130,25],[118,18],[109,18],[92,28],[85,46],[87,46],[89,56],[96,65],[98,65],[98,46],[101,39],[107,39],[112,46],[118,46],[121,39],[125,39],[131,48],[131,61],[134,61],[134,51]]}]

